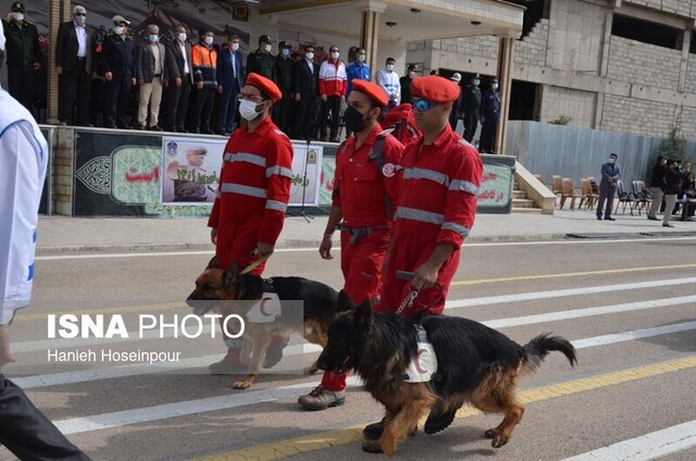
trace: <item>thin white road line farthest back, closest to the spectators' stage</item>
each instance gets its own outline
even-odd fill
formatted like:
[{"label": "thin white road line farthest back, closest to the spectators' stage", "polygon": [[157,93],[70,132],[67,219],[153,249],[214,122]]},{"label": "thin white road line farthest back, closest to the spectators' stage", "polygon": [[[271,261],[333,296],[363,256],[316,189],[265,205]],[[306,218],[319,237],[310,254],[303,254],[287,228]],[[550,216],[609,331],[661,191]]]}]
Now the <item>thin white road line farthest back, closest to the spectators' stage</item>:
[{"label": "thin white road line farthest back, closest to the spectators' stage", "polygon": [[[531,247],[537,245],[600,245],[600,244],[635,244],[639,241],[681,241],[681,240],[696,240],[696,237],[652,237],[652,238],[617,238],[617,239],[582,239],[582,240],[540,240],[540,241],[492,241],[480,244],[464,244],[465,248],[473,247]],[[319,247],[310,248],[278,248],[276,253],[294,253],[294,252],[307,252],[319,251]],[[150,251],[150,252],[137,252],[137,253],[103,253],[103,254],[57,254],[36,257],[36,261],[65,261],[65,260],[80,260],[80,259],[110,259],[110,258],[158,258],[158,257],[188,257],[207,254],[212,257],[215,250],[211,248],[209,251]]]}]

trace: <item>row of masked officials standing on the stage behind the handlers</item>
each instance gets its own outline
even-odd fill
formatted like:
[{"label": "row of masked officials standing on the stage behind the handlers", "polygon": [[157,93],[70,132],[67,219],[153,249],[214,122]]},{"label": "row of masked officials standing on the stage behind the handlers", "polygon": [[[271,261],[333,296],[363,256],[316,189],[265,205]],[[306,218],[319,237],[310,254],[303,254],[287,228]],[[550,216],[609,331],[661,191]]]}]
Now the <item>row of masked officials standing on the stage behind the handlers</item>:
[{"label": "row of masked officials standing on the stage behind the handlers", "polygon": [[[47,59],[39,47],[36,26],[26,21],[23,2],[13,2],[3,18],[8,42],[9,90],[35,115],[46,108]],[[195,37],[192,37],[192,35]],[[338,141],[344,126],[346,99],[352,80],[374,82],[387,97],[387,111],[411,101],[411,82],[419,70],[409,65],[399,77],[395,59],[373,71],[364,49],[351,47],[347,60],[332,45],[328,51],[313,45],[276,42],[269,35],[246,57],[239,37],[215,43],[212,29],[172,33],[157,24],[134,36],[130,22],[121,14],[109,27],[90,33],[87,10],[76,5],[72,18],[60,25],[55,43],[59,75],[58,117],[63,125],[121,129],[167,130],[228,136],[241,122],[239,90],[251,73],[274,82],[282,99],[272,119],[294,139]],[[195,40],[192,40],[195,38]],[[195,42],[194,42],[195,41]],[[461,75],[452,82],[460,85]],[[42,82],[42,80],[41,80]],[[482,123],[481,151],[492,152],[500,115],[497,80],[482,94],[475,75],[452,105],[452,128],[463,120],[462,135],[473,140]],[[37,116],[41,119],[41,116]],[[346,127],[346,135],[350,129]]]}]

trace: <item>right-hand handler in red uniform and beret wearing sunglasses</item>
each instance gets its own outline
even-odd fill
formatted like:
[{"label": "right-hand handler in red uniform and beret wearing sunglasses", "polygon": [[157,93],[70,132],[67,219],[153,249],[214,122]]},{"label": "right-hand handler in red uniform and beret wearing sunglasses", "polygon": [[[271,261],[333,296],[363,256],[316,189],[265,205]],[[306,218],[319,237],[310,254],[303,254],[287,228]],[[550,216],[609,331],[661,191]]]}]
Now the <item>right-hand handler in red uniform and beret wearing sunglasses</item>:
[{"label": "right-hand handler in red uniform and beret wearing sunglasses", "polygon": [[[437,75],[414,78],[413,110],[423,135],[403,152],[403,178],[394,222],[394,236],[384,273],[377,312],[406,316],[440,314],[449,284],[459,266],[460,247],[476,212],[483,164],[476,149],[449,126],[459,86]],[[412,273],[409,281],[402,273]],[[410,300],[410,294],[414,298]],[[408,297],[408,298],[407,298]],[[425,422],[426,434],[437,433],[455,412],[435,409]],[[363,431],[378,438],[383,423]]]}]

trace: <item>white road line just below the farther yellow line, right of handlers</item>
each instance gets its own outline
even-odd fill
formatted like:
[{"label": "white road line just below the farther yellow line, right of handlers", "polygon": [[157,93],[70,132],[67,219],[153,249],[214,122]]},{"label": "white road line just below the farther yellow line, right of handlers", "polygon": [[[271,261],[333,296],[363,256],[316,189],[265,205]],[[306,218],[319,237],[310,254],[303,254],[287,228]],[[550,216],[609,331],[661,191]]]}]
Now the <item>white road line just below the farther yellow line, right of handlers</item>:
[{"label": "white road line just below the farther yellow line, right of handlers", "polygon": [[445,303],[445,309],[469,308],[474,306],[499,304],[502,302],[521,302],[536,299],[561,298],[566,296],[592,295],[597,292],[608,292],[614,290],[632,290],[643,288],[655,288],[669,285],[689,285],[696,283],[696,277],[673,278],[670,281],[636,282],[631,284],[604,285],[595,287],[559,289],[551,291],[531,291],[514,295],[489,296],[485,298],[453,299]]}]

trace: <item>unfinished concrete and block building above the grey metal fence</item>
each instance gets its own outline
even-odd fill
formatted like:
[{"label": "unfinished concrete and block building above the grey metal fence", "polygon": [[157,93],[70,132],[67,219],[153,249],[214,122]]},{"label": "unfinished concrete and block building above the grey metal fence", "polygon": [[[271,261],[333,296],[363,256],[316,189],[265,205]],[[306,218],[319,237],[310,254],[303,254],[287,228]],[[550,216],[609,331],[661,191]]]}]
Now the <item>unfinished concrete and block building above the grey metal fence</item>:
[{"label": "unfinished concrete and block building above the grey metal fence", "polygon": [[[696,0],[532,0],[514,41],[511,120],[696,139]],[[408,45],[424,72],[496,74],[498,38]]]}]

